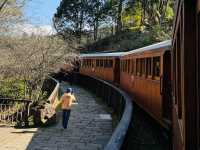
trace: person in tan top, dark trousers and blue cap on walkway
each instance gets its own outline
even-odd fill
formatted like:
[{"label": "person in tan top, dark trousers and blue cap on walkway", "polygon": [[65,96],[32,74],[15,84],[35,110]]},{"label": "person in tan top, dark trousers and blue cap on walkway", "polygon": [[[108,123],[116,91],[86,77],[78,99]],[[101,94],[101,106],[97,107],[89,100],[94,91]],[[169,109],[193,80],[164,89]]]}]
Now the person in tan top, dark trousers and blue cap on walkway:
[{"label": "person in tan top, dark trousers and blue cap on walkway", "polygon": [[72,88],[67,88],[65,93],[61,97],[61,108],[63,111],[62,125],[63,125],[64,129],[67,128],[67,124],[68,124],[69,116],[70,116],[70,112],[71,112],[71,106],[73,104],[73,101],[75,101],[75,100],[76,100],[76,98],[73,94]]}]

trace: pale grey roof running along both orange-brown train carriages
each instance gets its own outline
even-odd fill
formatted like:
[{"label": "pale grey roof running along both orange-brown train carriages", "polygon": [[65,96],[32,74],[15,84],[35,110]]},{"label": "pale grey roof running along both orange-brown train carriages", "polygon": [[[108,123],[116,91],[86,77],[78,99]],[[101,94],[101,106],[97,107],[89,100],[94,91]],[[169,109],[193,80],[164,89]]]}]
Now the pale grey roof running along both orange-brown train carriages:
[{"label": "pale grey roof running along both orange-brown train carriages", "polygon": [[88,58],[88,57],[120,57],[120,56],[126,56],[129,54],[134,54],[134,53],[141,53],[145,51],[151,51],[151,50],[158,50],[158,49],[163,49],[163,50],[168,50],[171,48],[171,40],[163,41],[160,43],[152,44],[149,46],[145,46],[142,48],[134,49],[128,52],[114,52],[114,53],[90,53],[90,54],[81,54],[81,58]]}]

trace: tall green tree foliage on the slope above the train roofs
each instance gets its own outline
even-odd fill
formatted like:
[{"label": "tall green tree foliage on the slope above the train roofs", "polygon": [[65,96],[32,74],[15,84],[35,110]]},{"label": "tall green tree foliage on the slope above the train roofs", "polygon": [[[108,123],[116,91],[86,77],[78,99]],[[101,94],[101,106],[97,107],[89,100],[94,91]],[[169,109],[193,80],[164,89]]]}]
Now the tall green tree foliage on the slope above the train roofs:
[{"label": "tall green tree foliage on the slope above the train roofs", "polygon": [[[119,38],[120,32],[138,35],[138,30],[141,37],[146,33],[152,34],[148,36],[151,42],[162,41],[171,36],[173,5],[173,0],[62,0],[54,23],[59,33],[69,33],[72,29],[87,44],[112,35]],[[71,22],[79,26],[71,25]],[[135,40],[138,41],[140,36],[134,36]],[[143,39],[140,42],[143,43]]]}]

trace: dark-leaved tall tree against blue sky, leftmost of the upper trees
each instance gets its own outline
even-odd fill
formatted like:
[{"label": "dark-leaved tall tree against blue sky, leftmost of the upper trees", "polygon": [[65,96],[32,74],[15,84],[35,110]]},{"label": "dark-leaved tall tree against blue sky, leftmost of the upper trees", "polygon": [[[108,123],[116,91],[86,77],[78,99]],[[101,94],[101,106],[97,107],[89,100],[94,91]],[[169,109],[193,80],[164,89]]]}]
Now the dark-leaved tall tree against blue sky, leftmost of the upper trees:
[{"label": "dark-leaved tall tree against blue sky, leftmost of the upper trees", "polygon": [[79,39],[81,38],[85,26],[86,5],[86,0],[61,1],[53,18],[54,27],[59,34],[63,37],[74,35]]}]

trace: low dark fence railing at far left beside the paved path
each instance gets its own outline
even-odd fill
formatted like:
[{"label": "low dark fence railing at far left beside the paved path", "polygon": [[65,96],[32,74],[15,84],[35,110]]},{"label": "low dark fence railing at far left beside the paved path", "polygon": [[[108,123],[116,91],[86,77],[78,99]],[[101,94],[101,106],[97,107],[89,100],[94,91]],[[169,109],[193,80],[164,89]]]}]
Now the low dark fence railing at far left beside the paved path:
[{"label": "low dark fence railing at far left beside the paved path", "polygon": [[0,98],[0,124],[28,126],[30,100]]}]

